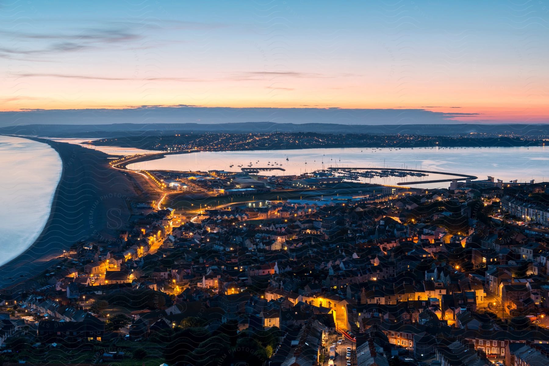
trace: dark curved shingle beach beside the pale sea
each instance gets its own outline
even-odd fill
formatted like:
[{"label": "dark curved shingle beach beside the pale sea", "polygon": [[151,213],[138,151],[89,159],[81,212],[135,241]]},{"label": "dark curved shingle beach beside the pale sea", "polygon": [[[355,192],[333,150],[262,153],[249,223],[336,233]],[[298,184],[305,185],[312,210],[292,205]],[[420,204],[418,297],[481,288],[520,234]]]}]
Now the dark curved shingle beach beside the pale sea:
[{"label": "dark curved shingle beach beside the pale sea", "polygon": [[127,201],[136,198],[135,181],[111,169],[107,154],[75,144],[24,138],[57,151],[61,174],[40,234],[21,254],[0,266],[0,289],[32,286],[29,279],[56,263],[63,250],[78,241],[114,239],[130,215]]}]

